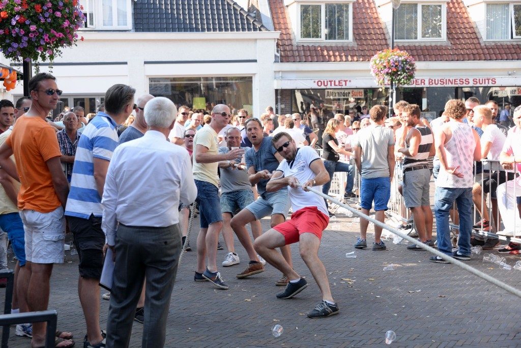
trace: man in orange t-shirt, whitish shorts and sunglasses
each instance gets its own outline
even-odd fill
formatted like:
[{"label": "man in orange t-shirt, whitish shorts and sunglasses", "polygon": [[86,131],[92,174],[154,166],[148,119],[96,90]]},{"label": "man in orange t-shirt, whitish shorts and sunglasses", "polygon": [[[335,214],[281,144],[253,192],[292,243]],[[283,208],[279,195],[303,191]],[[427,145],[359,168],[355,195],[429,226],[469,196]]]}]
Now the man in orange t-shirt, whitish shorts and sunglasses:
[{"label": "man in orange t-shirt, whitish shorts and sunglasses", "polygon": [[[17,119],[13,132],[0,146],[0,166],[21,183],[18,209],[25,231],[31,311],[47,309],[53,265],[64,261],[64,207],[69,184],[61,170],[56,132],[45,122],[61,94],[55,80],[40,73],[29,81],[31,107]],[[16,166],[9,158],[12,154]],[[45,344],[45,330],[45,322],[33,324],[32,346]],[[74,345],[71,340],[59,339],[57,343],[57,347]]]}]

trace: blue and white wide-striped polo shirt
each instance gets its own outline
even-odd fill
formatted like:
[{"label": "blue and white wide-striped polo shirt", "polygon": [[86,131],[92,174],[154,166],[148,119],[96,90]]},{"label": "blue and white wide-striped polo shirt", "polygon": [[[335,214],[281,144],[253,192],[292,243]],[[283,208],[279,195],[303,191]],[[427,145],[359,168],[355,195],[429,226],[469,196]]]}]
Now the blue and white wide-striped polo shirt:
[{"label": "blue and white wide-striped polo shirt", "polygon": [[94,179],[94,158],[110,161],[118,145],[117,124],[99,112],[85,127],[78,142],[72,167],[69,197],[65,215],[89,219],[103,215],[101,197]]}]

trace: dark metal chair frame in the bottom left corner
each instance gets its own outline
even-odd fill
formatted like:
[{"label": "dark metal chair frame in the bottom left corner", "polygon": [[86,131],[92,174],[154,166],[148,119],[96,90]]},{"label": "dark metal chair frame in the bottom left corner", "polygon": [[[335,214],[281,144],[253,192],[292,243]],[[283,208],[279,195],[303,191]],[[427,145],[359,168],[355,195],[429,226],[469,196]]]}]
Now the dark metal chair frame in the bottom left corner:
[{"label": "dark metal chair frame in the bottom left corner", "polygon": [[42,321],[47,322],[45,348],[54,347],[56,325],[58,321],[58,314],[56,313],[56,310],[43,310],[28,313],[6,314],[11,313],[11,301],[13,301],[15,273],[13,270],[0,271],[0,279],[2,278],[7,278],[4,314],[0,315],[0,326],[2,326],[2,348],[8,348],[10,325]]}]

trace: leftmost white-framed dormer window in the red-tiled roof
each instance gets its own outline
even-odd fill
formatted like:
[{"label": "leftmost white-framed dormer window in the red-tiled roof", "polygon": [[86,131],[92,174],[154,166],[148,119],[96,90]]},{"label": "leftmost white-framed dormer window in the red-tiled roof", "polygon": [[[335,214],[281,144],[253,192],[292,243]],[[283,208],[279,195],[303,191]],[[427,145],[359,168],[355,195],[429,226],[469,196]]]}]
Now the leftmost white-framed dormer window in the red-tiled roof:
[{"label": "leftmost white-framed dormer window in the red-tiled roof", "polygon": [[351,41],[351,3],[301,4],[300,38],[306,41]]}]

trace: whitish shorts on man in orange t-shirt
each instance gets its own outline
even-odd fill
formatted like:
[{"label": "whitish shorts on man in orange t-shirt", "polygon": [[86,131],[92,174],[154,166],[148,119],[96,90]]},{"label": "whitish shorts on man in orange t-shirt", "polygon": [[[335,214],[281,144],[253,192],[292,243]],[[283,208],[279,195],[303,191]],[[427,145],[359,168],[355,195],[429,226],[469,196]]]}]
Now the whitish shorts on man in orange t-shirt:
[{"label": "whitish shorts on man in orange t-shirt", "polygon": [[25,231],[26,260],[33,263],[63,263],[65,216],[61,206],[48,213],[20,211]]}]

